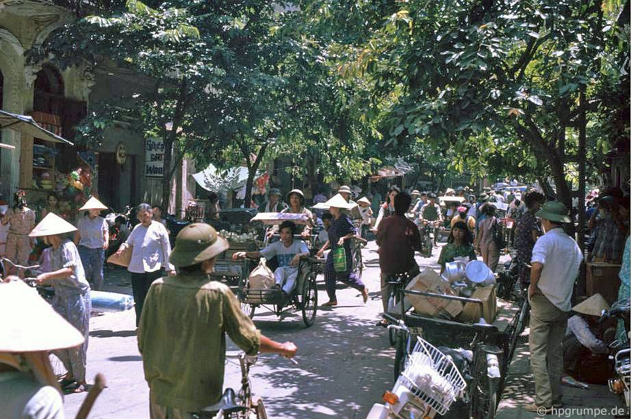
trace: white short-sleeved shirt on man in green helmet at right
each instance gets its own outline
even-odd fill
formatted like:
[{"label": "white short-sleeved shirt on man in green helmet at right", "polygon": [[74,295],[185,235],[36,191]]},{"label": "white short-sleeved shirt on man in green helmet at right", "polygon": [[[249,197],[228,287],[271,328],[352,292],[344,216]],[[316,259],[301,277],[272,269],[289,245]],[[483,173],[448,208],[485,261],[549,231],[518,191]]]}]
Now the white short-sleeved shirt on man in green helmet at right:
[{"label": "white short-sleeved shirt on man in green helmet at right", "polygon": [[543,264],[537,287],[563,312],[572,307],[572,290],[582,259],[578,244],[562,228],[546,232],[532,248],[530,263]]}]

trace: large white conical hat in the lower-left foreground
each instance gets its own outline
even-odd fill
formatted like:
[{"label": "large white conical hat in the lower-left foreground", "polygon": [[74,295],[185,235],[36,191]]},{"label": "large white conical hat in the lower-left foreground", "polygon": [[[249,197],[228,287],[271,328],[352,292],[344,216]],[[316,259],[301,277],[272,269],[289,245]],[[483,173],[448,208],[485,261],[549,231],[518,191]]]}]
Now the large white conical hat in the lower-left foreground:
[{"label": "large white conical hat in the lower-left foreground", "polygon": [[51,351],[83,343],[73,325],[17,279],[0,282],[0,318],[0,352]]}]

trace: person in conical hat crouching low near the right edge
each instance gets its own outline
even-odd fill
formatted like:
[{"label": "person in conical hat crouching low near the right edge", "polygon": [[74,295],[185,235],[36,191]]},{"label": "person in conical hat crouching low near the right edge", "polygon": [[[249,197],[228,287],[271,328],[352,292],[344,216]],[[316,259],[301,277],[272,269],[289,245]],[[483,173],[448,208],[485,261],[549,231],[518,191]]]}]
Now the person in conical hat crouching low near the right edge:
[{"label": "person in conical hat crouching low near the right edge", "polygon": [[563,338],[563,368],[568,374],[578,372],[581,353],[608,353],[607,343],[601,338],[598,322],[602,311],[608,309],[609,305],[600,294],[593,294],[589,299],[572,307],[575,314],[567,319],[567,330]]}]

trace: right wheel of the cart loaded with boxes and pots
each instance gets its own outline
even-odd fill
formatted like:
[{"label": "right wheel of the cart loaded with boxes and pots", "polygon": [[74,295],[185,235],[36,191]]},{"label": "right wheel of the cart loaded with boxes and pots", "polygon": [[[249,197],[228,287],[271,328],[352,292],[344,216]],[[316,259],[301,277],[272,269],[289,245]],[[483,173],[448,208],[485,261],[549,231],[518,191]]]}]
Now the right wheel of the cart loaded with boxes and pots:
[{"label": "right wheel of the cart loaded with boxes and pots", "polygon": [[469,418],[495,418],[495,409],[498,407],[498,386],[487,374],[487,354],[483,351],[476,353],[473,377],[473,385],[469,390],[472,392]]}]

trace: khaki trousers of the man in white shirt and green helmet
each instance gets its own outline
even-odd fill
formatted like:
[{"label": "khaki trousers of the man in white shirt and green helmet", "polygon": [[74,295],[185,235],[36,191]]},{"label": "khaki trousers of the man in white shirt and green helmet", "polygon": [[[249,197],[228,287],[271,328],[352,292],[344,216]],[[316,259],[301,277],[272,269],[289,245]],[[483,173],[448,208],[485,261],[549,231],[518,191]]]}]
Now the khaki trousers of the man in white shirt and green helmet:
[{"label": "khaki trousers of the man in white shirt and green helmet", "polygon": [[563,398],[563,338],[567,329],[567,313],[541,293],[530,302],[530,368],[535,376],[535,404],[550,407]]}]

